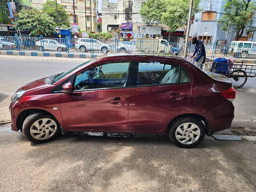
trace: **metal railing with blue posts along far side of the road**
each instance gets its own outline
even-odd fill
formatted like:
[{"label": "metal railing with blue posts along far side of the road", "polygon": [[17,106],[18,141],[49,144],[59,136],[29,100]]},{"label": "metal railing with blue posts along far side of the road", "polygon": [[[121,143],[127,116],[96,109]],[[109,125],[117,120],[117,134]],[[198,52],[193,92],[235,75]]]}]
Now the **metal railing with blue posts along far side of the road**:
[{"label": "metal railing with blue posts along far side of the road", "polygon": [[[96,40],[92,38],[70,39],[0,36],[1,50],[32,50],[32,51],[55,51],[55,52],[158,52],[184,55],[185,43],[168,42],[161,39],[137,39],[137,41]],[[256,44],[248,42],[236,42],[232,44],[204,44],[206,57],[233,57],[233,58],[256,58]],[[194,45],[188,42],[188,56],[192,56]]]}]

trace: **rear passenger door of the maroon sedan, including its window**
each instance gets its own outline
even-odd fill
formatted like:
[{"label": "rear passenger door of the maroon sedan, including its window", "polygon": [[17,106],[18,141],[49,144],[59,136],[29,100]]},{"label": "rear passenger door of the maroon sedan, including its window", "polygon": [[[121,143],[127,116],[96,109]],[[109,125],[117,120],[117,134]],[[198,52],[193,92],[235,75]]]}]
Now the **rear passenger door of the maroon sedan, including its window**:
[{"label": "rear passenger door of the maroon sedan, including its window", "polygon": [[178,64],[138,62],[129,102],[130,130],[161,131],[188,105],[191,80]]}]

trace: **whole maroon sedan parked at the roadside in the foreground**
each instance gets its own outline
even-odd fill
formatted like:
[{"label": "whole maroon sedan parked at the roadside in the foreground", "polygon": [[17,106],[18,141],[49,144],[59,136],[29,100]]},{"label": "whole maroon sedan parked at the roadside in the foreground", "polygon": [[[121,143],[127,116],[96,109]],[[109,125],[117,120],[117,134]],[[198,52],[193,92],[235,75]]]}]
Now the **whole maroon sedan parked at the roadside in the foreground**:
[{"label": "whole maroon sedan parked at the roadside in the foreground", "polygon": [[73,131],[168,134],[191,148],[230,128],[236,92],[227,80],[178,57],[105,55],[18,89],[12,130],[34,143]]}]

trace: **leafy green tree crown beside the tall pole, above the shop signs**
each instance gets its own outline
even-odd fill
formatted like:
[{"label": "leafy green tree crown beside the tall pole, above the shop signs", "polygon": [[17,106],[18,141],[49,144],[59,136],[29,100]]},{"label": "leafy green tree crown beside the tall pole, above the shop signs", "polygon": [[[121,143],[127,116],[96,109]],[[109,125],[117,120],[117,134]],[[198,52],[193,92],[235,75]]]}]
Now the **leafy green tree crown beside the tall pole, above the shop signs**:
[{"label": "leafy green tree crown beside the tall pole, above the shop signs", "polygon": [[[200,0],[194,0],[193,13],[198,12]],[[140,14],[144,22],[166,24],[170,32],[182,27],[188,20],[190,0],[147,0]]]}]

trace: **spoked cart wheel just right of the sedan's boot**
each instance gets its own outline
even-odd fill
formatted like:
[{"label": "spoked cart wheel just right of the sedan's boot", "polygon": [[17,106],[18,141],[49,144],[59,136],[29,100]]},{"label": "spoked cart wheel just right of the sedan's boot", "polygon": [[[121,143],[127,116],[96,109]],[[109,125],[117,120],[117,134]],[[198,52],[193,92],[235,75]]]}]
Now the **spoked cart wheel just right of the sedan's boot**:
[{"label": "spoked cart wheel just right of the sedan's boot", "polygon": [[243,70],[234,70],[229,75],[228,78],[232,81],[234,88],[242,87],[247,81],[247,74]]}]

